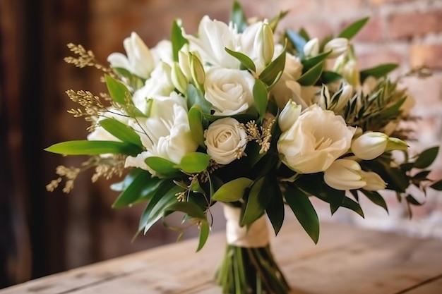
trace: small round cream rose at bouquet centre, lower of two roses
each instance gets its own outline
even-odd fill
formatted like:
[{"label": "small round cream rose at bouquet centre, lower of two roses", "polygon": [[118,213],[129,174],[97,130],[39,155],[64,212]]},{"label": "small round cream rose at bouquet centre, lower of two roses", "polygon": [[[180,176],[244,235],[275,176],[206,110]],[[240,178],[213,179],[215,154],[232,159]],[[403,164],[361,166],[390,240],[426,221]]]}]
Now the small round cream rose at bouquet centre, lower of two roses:
[{"label": "small round cream rose at bouquet centre, lower of two roses", "polygon": [[207,154],[218,164],[229,164],[244,155],[247,134],[234,118],[220,118],[204,132]]}]

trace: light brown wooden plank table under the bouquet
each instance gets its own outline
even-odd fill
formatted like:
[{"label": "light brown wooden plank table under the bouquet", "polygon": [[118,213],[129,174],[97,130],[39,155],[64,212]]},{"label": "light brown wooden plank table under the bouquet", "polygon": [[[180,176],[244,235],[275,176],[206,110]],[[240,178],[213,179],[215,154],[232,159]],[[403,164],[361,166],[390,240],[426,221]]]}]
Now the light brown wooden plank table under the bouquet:
[{"label": "light brown wooden plank table under the bouquet", "polygon": [[[0,290],[0,294],[220,294],[213,284],[223,233],[80,267]],[[296,221],[272,243],[292,294],[442,293],[442,240],[409,238],[322,223],[314,245]]]}]

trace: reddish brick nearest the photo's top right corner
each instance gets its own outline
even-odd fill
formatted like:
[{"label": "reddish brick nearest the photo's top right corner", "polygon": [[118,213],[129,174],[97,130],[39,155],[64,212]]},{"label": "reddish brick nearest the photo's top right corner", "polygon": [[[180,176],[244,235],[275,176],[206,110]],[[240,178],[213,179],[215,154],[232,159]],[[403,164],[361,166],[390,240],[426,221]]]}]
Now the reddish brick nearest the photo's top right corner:
[{"label": "reddish brick nearest the photo's top right corner", "polygon": [[442,10],[427,13],[400,13],[390,17],[390,36],[412,38],[442,32]]}]

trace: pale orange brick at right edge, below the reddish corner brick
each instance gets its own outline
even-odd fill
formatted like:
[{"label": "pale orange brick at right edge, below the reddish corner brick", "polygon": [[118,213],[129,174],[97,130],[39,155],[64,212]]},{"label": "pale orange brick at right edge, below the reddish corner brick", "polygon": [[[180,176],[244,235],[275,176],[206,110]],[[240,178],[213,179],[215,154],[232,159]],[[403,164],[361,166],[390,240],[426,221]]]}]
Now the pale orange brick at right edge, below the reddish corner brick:
[{"label": "pale orange brick at right edge, below the reddish corner brick", "polygon": [[410,49],[412,67],[427,66],[442,69],[442,44],[414,45]]}]

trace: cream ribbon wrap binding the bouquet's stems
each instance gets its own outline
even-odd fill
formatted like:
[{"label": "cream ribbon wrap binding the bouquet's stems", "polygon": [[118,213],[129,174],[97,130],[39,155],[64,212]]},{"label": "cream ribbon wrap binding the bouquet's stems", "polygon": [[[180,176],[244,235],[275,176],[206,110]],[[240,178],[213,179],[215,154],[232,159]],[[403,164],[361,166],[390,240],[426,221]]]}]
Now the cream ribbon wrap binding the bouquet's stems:
[{"label": "cream ribbon wrap binding the bouquet's stems", "polygon": [[269,243],[269,232],[265,214],[253,221],[249,228],[239,226],[241,209],[224,205],[227,244],[238,247],[265,247]]}]

